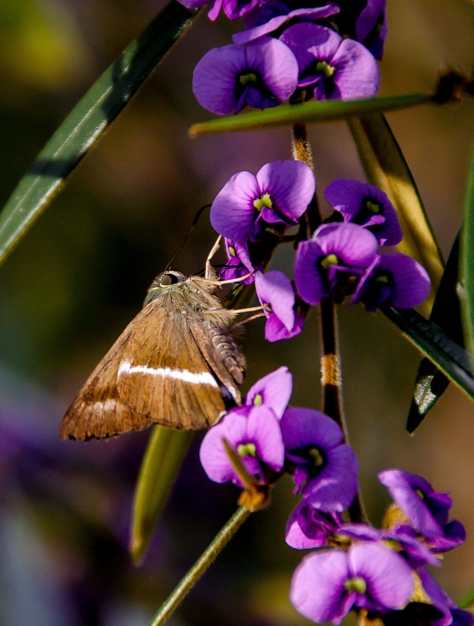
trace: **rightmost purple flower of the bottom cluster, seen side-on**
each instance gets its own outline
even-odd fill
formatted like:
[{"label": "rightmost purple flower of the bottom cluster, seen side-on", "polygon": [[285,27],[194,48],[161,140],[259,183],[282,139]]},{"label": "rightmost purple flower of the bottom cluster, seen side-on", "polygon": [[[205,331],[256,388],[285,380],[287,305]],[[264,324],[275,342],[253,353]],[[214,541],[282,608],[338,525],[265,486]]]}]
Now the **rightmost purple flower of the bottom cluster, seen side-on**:
[{"label": "rightmost purple flower of the bottom cluster, seen side-on", "polygon": [[461,522],[448,522],[453,501],[447,493],[436,492],[425,478],[401,469],[385,469],[378,478],[433,552],[446,552],[465,541]]}]

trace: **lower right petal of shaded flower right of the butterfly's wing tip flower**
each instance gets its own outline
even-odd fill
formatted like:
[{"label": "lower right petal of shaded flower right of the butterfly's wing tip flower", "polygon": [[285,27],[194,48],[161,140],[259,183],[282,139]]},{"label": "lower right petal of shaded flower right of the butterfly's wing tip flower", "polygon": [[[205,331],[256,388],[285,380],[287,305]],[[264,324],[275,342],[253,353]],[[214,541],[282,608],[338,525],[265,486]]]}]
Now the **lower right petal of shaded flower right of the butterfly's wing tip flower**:
[{"label": "lower right petal of shaded flower right of the butterfly's wing tip flower", "polygon": [[359,462],[347,444],[326,453],[326,465],[316,478],[307,481],[303,495],[307,502],[321,511],[342,512],[356,497],[359,483]]}]

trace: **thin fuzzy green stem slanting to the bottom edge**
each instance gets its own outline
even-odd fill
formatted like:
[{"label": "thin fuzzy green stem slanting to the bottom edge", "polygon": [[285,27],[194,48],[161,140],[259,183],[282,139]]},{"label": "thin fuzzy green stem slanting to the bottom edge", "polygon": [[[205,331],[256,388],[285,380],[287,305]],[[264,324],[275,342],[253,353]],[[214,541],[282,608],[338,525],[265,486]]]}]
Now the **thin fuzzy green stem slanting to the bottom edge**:
[{"label": "thin fuzzy green stem slanting to the bottom edge", "polygon": [[165,623],[187,593],[190,592],[193,585],[199,580],[209,565],[214,561],[215,557],[222,552],[222,549],[227,545],[227,543],[229,543],[230,539],[249,517],[250,512],[251,511],[244,508],[244,506],[240,506],[240,508],[235,511],[234,515],[232,515],[225,526],[221,528],[209,546],[207,546],[204,550],[200,558],[198,558],[193,567],[180,580],[168,599],[162,604],[149,626],[161,626],[161,624]]}]

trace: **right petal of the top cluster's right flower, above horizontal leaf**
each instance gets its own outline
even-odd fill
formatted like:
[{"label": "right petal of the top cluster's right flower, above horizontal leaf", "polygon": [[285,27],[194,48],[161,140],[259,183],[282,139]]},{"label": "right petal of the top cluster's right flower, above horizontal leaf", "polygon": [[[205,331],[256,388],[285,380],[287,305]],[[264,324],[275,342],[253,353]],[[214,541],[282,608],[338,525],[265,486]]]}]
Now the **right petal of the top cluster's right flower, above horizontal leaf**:
[{"label": "right petal of the top cluster's right flower, above horizontal leaf", "polygon": [[344,39],[331,59],[334,91],[329,97],[343,100],[372,98],[380,86],[380,71],[374,56],[358,41]]}]

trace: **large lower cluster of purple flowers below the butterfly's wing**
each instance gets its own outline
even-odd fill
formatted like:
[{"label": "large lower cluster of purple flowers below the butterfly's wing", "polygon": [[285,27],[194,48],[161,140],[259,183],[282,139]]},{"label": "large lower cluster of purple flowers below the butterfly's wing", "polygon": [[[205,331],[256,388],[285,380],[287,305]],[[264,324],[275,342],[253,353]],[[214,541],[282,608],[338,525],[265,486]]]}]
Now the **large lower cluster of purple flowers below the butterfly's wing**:
[{"label": "large lower cluster of purple flowers below the butterfly's wing", "polygon": [[288,407],[291,393],[286,367],[257,381],[245,404],[205,435],[200,459],[212,480],[244,486],[225,441],[259,485],[272,485],[284,472],[292,476],[302,499],[287,522],[286,542],[323,548],[306,555],[294,573],[294,607],[314,622],[339,624],[356,609],[386,623],[393,616],[394,623],[411,623],[416,611],[433,626],[472,625],[471,613],[460,610],[426,570],[439,567],[440,554],[465,540],[463,525],[448,520],[449,496],[421,476],[387,469],[379,480],[394,504],[384,528],[344,523],[358,491],[356,454],[327,415]]}]

